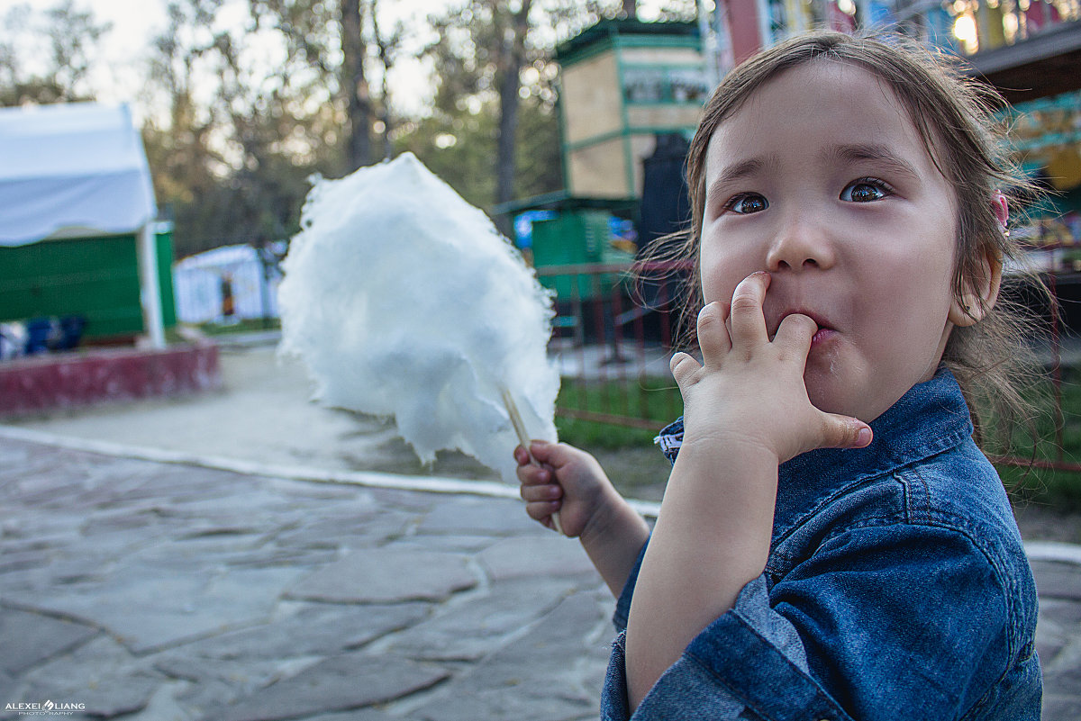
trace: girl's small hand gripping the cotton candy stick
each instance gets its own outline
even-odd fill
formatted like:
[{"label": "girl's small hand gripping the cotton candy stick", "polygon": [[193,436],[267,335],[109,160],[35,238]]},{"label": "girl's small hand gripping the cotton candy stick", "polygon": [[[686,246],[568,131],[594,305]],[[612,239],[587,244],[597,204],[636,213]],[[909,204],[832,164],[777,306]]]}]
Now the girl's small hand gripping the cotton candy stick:
[{"label": "girl's small hand gripping the cotton candy stick", "polygon": [[546,528],[553,528],[551,515],[559,512],[563,533],[577,538],[596,521],[605,501],[618,495],[600,464],[589,453],[568,446],[534,440],[530,463],[525,449],[515,449],[518,479],[525,500],[525,513]]}]

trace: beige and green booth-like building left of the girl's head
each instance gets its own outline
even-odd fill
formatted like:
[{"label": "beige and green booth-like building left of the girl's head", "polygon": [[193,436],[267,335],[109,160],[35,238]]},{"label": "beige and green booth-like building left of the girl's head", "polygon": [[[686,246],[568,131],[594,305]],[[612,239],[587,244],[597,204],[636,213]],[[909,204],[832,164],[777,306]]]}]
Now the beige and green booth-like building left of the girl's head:
[{"label": "beige and green booth-like building left of the girl's head", "polygon": [[[538,270],[626,264],[633,247],[612,236],[610,219],[638,220],[642,161],[657,149],[658,136],[694,134],[710,90],[697,25],[602,21],[561,43],[556,59],[563,190],[495,212],[550,212],[532,223]],[[545,272],[540,281],[561,300],[608,295],[618,282],[611,273]]]}]

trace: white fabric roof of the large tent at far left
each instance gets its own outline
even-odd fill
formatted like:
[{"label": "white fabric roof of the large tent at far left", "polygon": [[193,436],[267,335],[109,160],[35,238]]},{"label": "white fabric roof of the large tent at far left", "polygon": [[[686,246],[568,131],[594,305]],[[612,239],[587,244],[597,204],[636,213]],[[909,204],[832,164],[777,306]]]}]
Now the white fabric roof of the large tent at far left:
[{"label": "white fabric roof of the large tent at far left", "polygon": [[128,106],[0,109],[0,245],[130,233],[156,214]]}]

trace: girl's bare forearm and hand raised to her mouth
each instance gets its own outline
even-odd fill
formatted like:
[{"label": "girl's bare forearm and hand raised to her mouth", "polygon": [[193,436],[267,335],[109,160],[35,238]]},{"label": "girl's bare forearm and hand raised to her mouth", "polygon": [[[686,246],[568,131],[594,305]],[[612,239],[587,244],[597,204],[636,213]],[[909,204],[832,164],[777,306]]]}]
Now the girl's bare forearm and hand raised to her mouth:
[{"label": "girl's bare forearm and hand raised to her mouth", "polygon": [[627,693],[645,697],[686,644],[735,604],[770,555],[777,464],[814,448],[858,448],[870,427],[811,405],[803,372],[817,325],[784,318],[771,340],[770,275],[744,278],[731,307],[698,314],[703,364],[671,369],[683,394],[683,445],[645,549],[627,622]]}]

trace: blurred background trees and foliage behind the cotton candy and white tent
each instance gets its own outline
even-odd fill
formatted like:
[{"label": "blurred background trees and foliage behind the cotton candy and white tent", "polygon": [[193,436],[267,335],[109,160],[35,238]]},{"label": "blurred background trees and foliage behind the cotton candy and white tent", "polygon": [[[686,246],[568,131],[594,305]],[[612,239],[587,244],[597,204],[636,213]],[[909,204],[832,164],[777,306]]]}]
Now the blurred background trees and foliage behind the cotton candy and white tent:
[{"label": "blurred background trees and foliage behind the cotton candy and white tent", "polygon": [[[5,14],[0,105],[94,98],[109,28],[76,0],[58,2]],[[136,114],[177,255],[289,237],[311,174],[338,177],[406,149],[481,207],[558,190],[551,51],[624,4],[456,0],[405,27],[384,22],[389,0],[246,0],[239,25],[224,19],[235,1],[170,0]],[[666,14],[693,9],[671,0]],[[406,117],[389,71],[424,44],[433,101]]]}]

